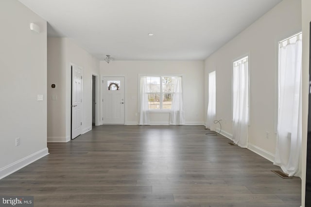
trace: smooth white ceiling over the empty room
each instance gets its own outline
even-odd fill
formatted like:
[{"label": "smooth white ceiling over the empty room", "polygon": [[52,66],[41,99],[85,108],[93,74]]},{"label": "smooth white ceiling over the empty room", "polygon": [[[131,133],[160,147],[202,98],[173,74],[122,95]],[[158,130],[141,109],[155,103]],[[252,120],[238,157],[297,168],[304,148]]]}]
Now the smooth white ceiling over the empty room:
[{"label": "smooth white ceiling over the empty room", "polygon": [[19,1],[99,60],[204,60],[281,0]]}]

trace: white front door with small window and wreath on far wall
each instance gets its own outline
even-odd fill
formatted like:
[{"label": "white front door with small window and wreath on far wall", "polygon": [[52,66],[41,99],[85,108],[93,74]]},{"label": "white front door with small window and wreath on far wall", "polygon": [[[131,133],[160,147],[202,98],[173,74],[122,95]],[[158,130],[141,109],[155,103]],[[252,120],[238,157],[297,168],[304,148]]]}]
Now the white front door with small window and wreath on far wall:
[{"label": "white front door with small window and wreath on far wall", "polygon": [[103,77],[103,124],[124,124],[124,77]]}]

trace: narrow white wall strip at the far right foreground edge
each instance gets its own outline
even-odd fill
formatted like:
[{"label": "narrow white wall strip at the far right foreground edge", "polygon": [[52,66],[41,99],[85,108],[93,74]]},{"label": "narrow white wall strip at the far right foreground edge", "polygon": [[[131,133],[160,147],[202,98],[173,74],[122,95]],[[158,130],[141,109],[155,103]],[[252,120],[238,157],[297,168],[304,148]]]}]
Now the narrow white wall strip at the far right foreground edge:
[{"label": "narrow white wall strip at the far right foreground edge", "polygon": [[309,107],[309,49],[310,49],[310,21],[311,1],[302,0],[302,184],[301,206],[305,206],[306,195],[306,158],[307,158],[307,131]]}]

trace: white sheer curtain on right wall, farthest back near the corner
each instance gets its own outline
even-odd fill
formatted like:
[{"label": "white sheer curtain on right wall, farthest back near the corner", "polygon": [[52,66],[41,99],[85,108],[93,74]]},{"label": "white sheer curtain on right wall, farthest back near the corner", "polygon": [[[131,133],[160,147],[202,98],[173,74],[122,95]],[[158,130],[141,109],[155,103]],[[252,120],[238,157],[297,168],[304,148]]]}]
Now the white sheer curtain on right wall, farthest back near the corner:
[{"label": "white sheer curtain on right wall, farthest back near the corner", "polygon": [[208,106],[207,106],[207,128],[215,131],[216,125],[216,71],[208,74]]}]

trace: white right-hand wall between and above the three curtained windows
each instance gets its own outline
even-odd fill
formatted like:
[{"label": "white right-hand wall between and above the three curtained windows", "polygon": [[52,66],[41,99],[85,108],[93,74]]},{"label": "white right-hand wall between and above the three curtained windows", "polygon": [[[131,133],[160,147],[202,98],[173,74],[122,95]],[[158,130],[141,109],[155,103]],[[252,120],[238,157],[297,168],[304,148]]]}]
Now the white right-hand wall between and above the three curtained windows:
[{"label": "white right-hand wall between and above the three curtained windows", "polygon": [[[217,119],[223,120],[223,130],[230,135],[232,63],[249,55],[249,148],[270,160],[274,159],[276,148],[277,43],[300,31],[301,1],[283,0],[205,61],[206,82],[208,72],[216,70]],[[205,100],[207,109],[207,97]]]}]

